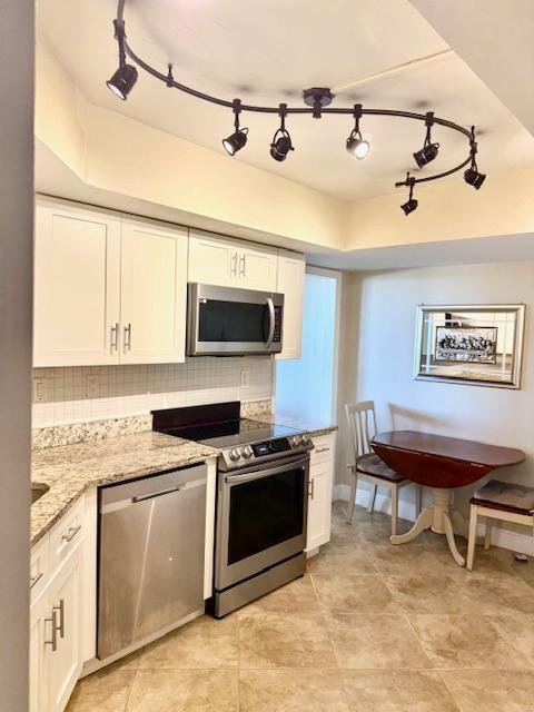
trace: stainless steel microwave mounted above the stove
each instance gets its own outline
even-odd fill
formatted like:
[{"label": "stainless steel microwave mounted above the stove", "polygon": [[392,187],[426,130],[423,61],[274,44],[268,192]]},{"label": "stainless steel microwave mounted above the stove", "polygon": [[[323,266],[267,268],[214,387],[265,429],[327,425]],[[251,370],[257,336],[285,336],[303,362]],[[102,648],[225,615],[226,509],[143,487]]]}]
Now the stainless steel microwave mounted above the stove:
[{"label": "stainless steel microwave mounted above the stove", "polygon": [[283,324],[283,294],[188,285],[188,356],[278,354]]}]

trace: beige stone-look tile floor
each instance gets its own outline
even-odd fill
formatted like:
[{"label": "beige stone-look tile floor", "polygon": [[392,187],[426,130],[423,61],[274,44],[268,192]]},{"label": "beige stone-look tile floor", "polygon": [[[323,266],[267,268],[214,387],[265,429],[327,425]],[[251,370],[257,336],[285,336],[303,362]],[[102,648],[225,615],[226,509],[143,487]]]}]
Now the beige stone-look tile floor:
[{"label": "beige stone-look tile floor", "polygon": [[82,680],[69,712],[534,712],[534,562],[477,548],[469,573],[444,537],[343,514],[305,577]]}]

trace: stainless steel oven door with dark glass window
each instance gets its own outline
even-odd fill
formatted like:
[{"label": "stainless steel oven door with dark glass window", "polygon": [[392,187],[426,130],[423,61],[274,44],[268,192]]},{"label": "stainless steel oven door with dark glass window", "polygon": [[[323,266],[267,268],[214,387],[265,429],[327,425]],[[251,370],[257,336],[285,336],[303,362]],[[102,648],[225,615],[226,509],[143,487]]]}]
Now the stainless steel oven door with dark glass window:
[{"label": "stainless steel oven door with dark glass window", "polygon": [[306,545],[309,455],[219,473],[215,587],[227,589]]}]

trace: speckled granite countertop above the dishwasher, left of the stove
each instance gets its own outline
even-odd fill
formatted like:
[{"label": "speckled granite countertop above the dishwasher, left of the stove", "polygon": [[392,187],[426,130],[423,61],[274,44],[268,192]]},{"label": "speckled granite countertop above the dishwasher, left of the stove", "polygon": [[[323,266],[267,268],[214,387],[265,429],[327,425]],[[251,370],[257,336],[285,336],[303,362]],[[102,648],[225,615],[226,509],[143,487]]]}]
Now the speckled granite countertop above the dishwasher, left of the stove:
[{"label": "speckled granite countertop above the dishwasher, left of the stove", "polygon": [[217,457],[218,449],[151,431],[47,447],[32,453],[32,485],[50,490],[31,505],[31,544],[88,487],[125,482]]}]

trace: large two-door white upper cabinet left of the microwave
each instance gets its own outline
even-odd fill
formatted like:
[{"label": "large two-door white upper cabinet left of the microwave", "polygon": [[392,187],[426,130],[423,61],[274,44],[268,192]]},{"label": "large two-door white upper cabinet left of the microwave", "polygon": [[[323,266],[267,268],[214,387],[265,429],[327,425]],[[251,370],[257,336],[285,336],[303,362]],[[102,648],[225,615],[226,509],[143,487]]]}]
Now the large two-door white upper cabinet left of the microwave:
[{"label": "large two-door white upper cabinet left of the microwave", "polygon": [[39,201],[33,366],[184,362],[187,253],[185,228]]}]

